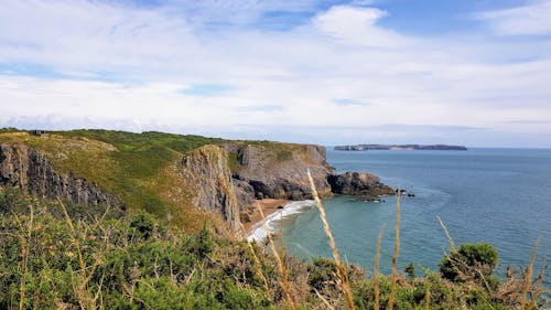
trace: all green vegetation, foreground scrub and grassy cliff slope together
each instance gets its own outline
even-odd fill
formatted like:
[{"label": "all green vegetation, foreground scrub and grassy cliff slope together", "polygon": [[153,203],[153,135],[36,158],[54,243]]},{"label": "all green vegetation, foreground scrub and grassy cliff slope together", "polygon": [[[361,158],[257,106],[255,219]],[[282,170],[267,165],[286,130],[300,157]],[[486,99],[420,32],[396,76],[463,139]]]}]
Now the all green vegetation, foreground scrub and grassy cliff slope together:
[{"label": "all green vegetation, foreground scrub and grassy cliff slope together", "polygon": [[[543,274],[532,280],[533,258],[518,275],[511,268],[507,279],[498,279],[493,275],[498,255],[488,244],[455,249],[451,242],[440,272],[419,276],[410,264],[408,276],[387,277],[376,267],[377,277],[368,277],[355,266],[326,258],[300,263],[283,249],[276,257],[223,237],[223,225],[191,205],[177,172],[183,154],[220,139],[106,130],[39,137],[8,129],[0,131],[0,142],[43,151],[57,170],[120,195],[130,211],[62,204],[0,188],[0,309],[544,307]],[[272,152],[278,161],[303,151],[299,145],[253,143],[278,150]],[[228,165],[238,165],[236,153]],[[168,195],[175,189],[183,190],[181,196]],[[341,277],[349,284],[348,296]]]}]

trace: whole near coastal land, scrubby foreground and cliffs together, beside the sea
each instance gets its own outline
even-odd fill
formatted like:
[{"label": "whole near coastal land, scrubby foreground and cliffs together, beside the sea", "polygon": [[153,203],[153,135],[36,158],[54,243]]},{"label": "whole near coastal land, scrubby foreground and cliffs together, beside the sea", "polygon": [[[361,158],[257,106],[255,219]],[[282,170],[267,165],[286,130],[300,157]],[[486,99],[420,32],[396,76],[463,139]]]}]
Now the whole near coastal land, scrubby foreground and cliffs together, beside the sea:
[{"label": "whole near coastal land, scrubby foreground and cliffs together, beside the sea", "polygon": [[1,309],[543,307],[542,275],[496,278],[486,244],[452,248],[420,276],[344,266],[350,304],[333,260],[284,249],[280,260],[237,240],[260,195],[311,197],[302,170],[324,195],[392,191],[369,173],[334,174],[322,147],[106,130],[1,130],[0,147]]}]

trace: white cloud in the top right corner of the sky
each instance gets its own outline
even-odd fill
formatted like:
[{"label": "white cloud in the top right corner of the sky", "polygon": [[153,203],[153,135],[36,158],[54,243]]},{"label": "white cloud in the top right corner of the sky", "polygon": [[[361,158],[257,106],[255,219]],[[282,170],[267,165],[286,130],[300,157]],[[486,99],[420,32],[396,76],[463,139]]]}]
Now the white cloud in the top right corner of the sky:
[{"label": "white cloud in the top right corner of the sky", "polygon": [[477,13],[497,34],[551,34],[551,0],[538,0],[506,10]]}]

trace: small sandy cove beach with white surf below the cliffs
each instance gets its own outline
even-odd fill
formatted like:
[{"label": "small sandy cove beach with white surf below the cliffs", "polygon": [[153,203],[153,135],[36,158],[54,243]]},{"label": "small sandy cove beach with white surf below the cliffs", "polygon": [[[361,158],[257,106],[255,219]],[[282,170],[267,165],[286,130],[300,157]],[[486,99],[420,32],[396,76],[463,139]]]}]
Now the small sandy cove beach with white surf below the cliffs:
[{"label": "small sandy cove beach with white surf below the cliffs", "polygon": [[[262,242],[268,232],[264,228],[262,216],[258,207],[262,207],[262,213],[266,217],[266,225],[268,231],[274,232],[278,229],[279,225],[276,226],[274,223],[283,220],[284,217],[300,213],[302,209],[307,206],[314,206],[315,202],[313,200],[304,201],[290,201],[290,200],[276,200],[276,199],[263,199],[255,202],[255,212],[251,215],[251,222],[244,224],[247,240],[248,242]],[[279,211],[279,212],[278,212]]]}]

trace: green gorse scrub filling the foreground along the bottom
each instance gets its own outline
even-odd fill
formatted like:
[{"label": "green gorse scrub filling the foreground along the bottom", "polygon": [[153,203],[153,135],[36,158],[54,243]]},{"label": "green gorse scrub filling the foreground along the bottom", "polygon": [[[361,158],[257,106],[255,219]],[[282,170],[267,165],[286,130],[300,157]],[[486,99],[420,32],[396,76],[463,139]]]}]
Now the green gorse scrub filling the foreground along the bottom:
[{"label": "green gorse scrub filling the foreground along the bottom", "polygon": [[[7,189],[0,207],[0,309],[289,309],[274,258],[205,224],[184,234],[145,212],[62,205]],[[461,246],[450,257],[490,269],[497,263],[486,245]],[[296,309],[347,307],[333,260],[305,264],[284,253],[281,260]],[[355,266],[345,272],[355,308],[375,309],[372,278]],[[397,275],[395,309],[519,309],[526,275],[488,290],[440,272],[409,274]],[[390,278],[381,275],[378,287],[385,309]],[[541,308],[529,292],[525,309]]]}]

